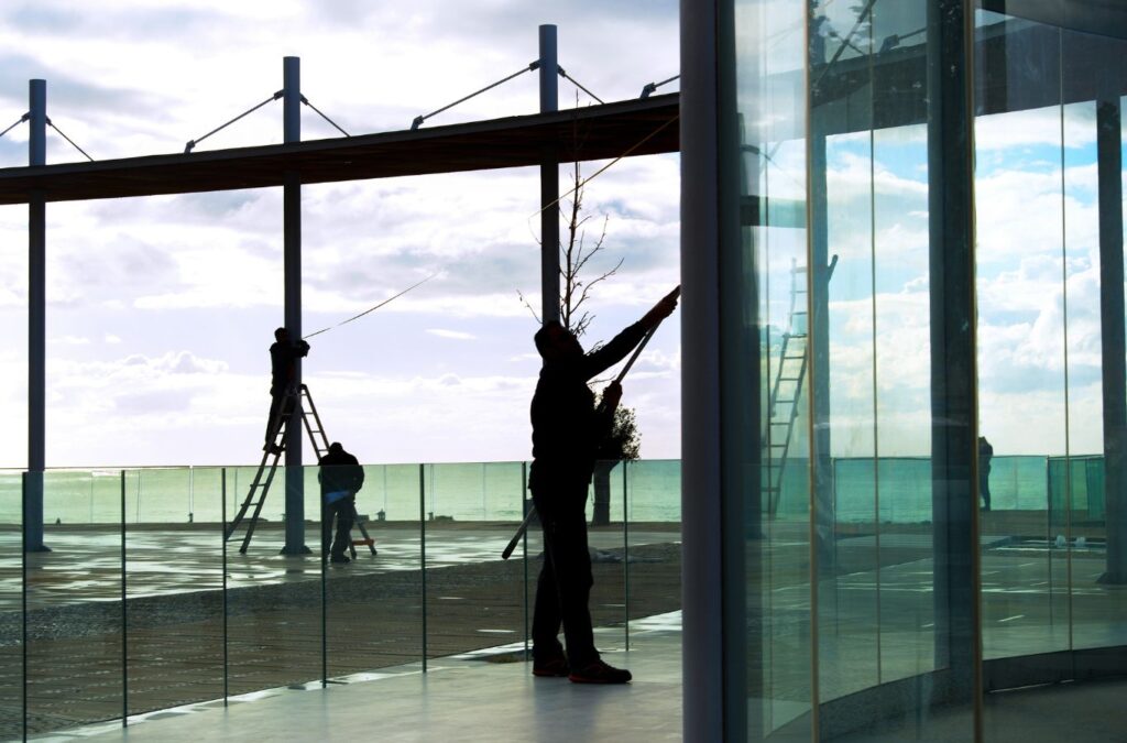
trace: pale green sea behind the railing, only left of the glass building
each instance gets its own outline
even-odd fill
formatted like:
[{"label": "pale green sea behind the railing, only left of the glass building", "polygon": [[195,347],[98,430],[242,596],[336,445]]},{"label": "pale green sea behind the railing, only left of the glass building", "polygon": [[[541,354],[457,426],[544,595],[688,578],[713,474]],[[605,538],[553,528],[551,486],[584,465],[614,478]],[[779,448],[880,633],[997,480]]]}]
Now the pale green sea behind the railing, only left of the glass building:
[{"label": "pale green sea behind the railing, only left of the glass building", "polygon": [[[419,521],[521,521],[524,462],[369,465],[357,511],[369,519]],[[218,523],[231,520],[246,499],[255,467],[48,470],[44,521],[64,524]],[[320,518],[318,468],[302,471],[305,519]],[[646,460],[615,465],[610,474],[611,519],[677,522],[681,462]],[[260,519],[284,518],[285,468],[278,468]],[[0,523],[20,523],[21,478],[0,471]],[[592,488],[593,492],[594,488]],[[593,497],[589,496],[589,497]],[[225,511],[224,511],[225,505]]]}]

